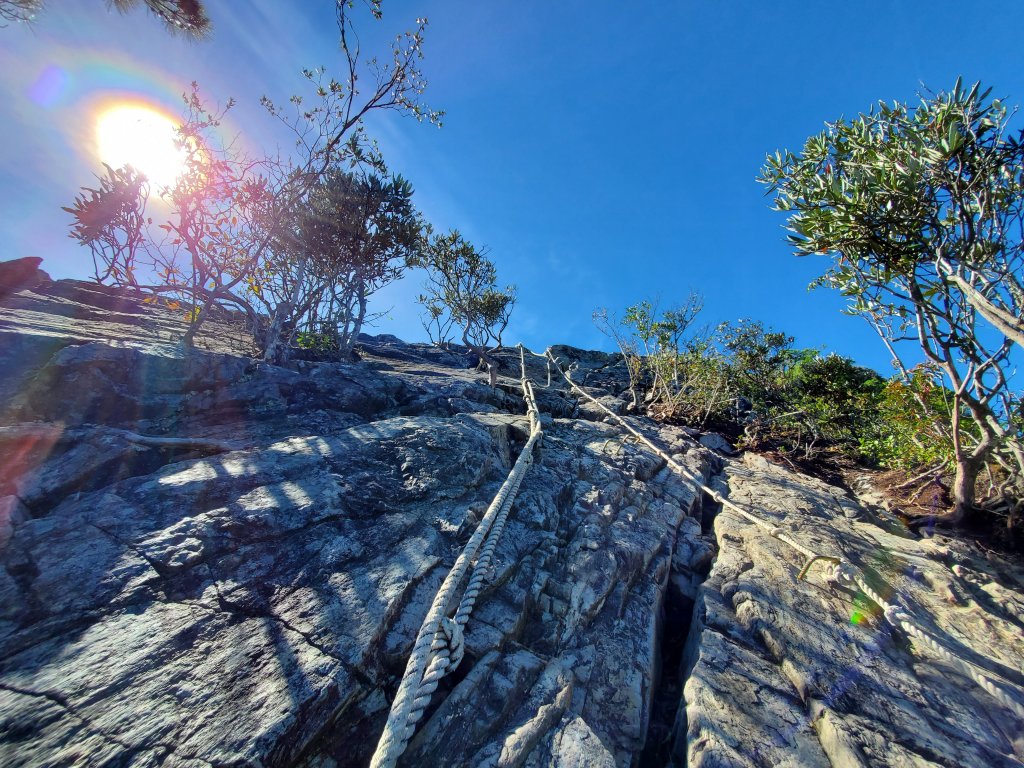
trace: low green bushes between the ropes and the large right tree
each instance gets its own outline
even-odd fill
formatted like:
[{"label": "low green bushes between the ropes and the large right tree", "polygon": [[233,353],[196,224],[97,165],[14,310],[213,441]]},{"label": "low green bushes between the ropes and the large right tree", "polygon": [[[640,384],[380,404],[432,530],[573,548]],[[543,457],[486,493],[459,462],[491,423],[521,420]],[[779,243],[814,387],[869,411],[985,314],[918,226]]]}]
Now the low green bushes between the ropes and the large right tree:
[{"label": "low green bushes between the ropes and the large right tree", "polygon": [[792,336],[757,321],[689,330],[701,306],[691,294],[665,312],[650,301],[630,306],[621,321],[594,312],[626,360],[629,408],[642,400],[655,419],[742,431],[748,447],[799,450],[807,460],[819,450],[856,455],[862,441],[876,444],[882,377],[840,355],[796,349]]}]

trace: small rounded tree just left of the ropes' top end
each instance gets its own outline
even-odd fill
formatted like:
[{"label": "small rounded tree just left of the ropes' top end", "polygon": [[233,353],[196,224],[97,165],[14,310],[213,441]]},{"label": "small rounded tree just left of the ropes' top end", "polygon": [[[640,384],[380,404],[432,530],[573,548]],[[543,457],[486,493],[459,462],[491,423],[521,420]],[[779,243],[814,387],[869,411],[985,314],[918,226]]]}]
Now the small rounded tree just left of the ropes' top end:
[{"label": "small rounded tree just left of the ropes' top end", "polygon": [[426,293],[418,301],[427,310],[424,328],[431,341],[445,344],[449,330],[461,328],[463,343],[488,367],[494,383],[488,355],[502,347],[502,334],[515,306],[515,287],[499,289],[498,270],[486,251],[477,250],[457,229],[431,240],[417,264],[428,275]]}]

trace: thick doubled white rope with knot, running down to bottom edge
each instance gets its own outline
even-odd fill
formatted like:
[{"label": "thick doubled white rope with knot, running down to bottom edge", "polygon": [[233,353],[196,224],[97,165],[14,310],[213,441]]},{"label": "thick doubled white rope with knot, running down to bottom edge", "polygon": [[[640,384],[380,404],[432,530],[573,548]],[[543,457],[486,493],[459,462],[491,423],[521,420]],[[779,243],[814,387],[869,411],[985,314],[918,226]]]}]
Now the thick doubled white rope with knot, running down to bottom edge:
[{"label": "thick doubled white rope with knot, running down to bottom edge", "polygon": [[[522,395],[529,416],[529,438],[519,453],[512,470],[502,483],[473,536],[444,578],[437,595],[427,610],[406,665],[406,674],[398,685],[384,732],[370,762],[371,768],[393,768],[406,751],[416,724],[430,703],[430,697],[444,675],[459,666],[463,655],[463,630],[483,588],[495,548],[508,519],[512,502],[526,470],[534,463],[534,450],[544,436],[541,415],[537,409],[534,385],[526,378],[525,359],[520,349]],[[451,608],[467,572],[472,569],[455,616]]]}]

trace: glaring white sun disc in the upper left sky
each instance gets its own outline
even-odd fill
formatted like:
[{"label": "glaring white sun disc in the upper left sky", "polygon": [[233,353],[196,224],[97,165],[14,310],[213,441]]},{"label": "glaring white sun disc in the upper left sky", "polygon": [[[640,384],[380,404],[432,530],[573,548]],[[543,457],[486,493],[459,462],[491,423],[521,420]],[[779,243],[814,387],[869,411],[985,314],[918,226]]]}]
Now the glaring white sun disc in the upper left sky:
[{"label": "glaring white sun disc in the upper left sky", "polygon": [[171,186],[184,169],[185,152],[175,145],[177,125],[159,111],[118,104],[96,120],[96,151],[112,168],[132,166],[155,189]]}]

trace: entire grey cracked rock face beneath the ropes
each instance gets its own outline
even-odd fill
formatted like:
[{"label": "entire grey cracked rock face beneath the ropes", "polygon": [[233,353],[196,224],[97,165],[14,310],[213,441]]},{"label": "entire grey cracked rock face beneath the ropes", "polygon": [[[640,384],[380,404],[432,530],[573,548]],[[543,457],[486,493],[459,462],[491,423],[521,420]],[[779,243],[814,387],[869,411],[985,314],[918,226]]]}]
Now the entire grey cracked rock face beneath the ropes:
[{"label": "entire grey cracked rock face beneath the ropes", "polygon": [[[526,439],[518,354],[496,389],[458,350],[393,337],[284,368],[240,354],[229,326],[182,350],[172,311],[87,284],[4,301],[0,764],[366,765]],[[621,358],[555,352],[625,409]],[[402,765],[1016,764],[1012,713],[862,597],[797,582],[785,545],[716,516],[528,360],[541,460]],[[1011,564],[638,423],[1021,682]]]}]

